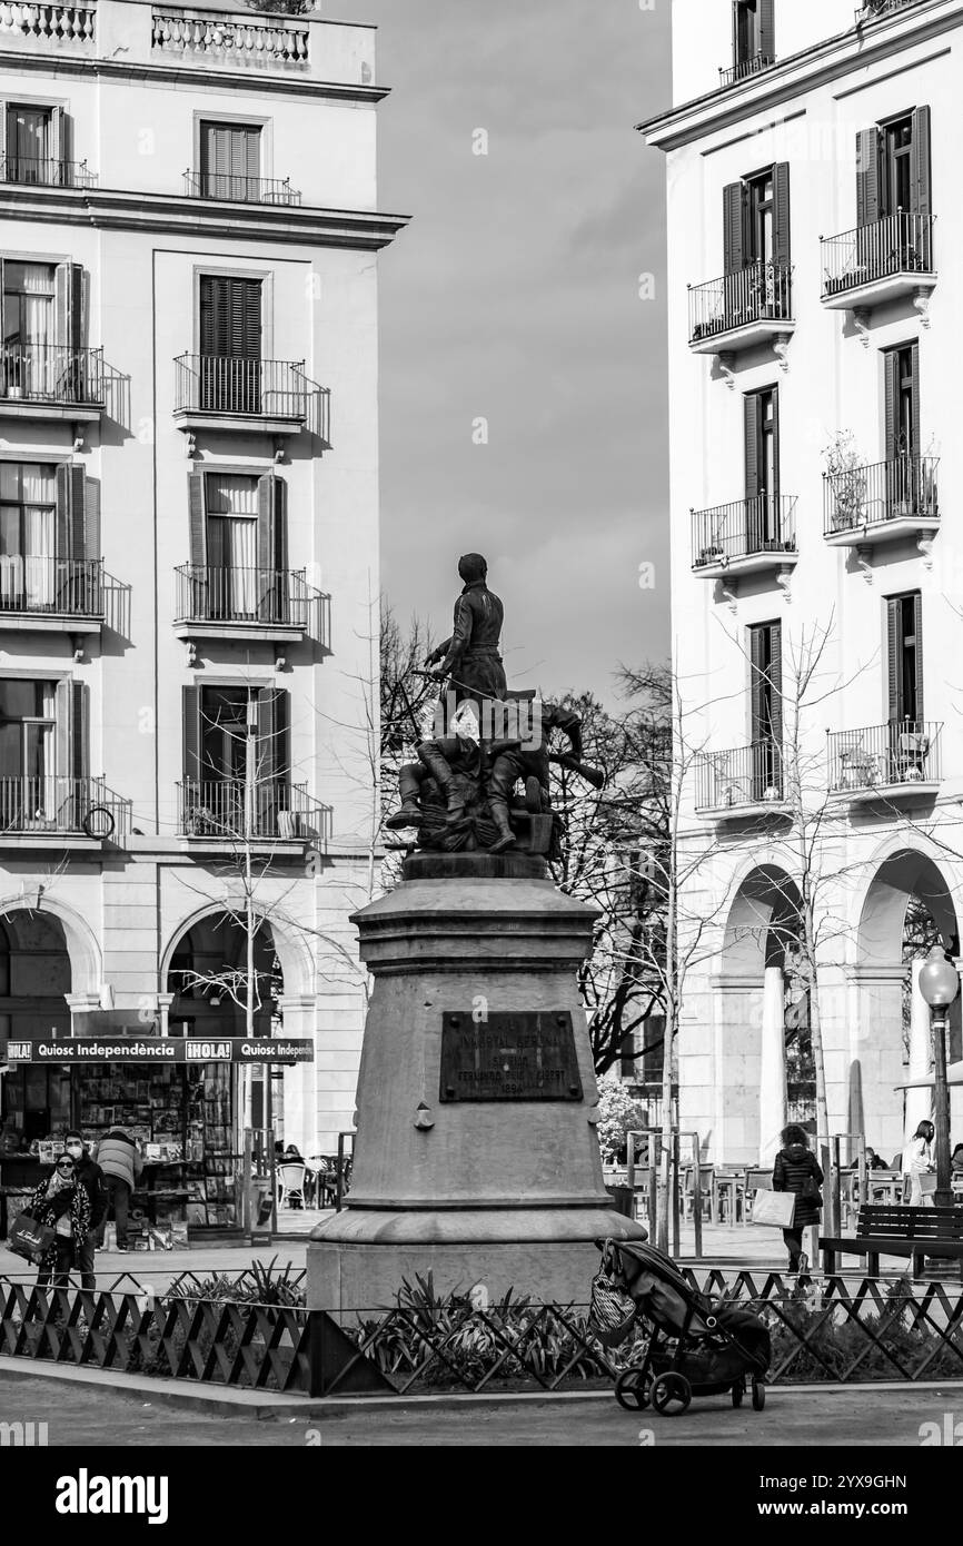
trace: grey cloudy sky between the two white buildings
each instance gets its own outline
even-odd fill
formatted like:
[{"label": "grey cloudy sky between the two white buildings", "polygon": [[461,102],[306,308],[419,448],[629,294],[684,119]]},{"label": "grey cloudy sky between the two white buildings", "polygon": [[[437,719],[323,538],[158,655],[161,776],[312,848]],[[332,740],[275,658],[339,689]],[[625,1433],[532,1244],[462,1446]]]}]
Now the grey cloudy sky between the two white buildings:
[{"label": "grey cloudy sky between the two white buildings", "polygon": [[668,652],[665,164],[634,124],[669,100],[669,3],[325,14],[379,26],[379,204],[413,216],[380,258],[383,591],[444,637],[479,550],[510,683],[611,697]]}]

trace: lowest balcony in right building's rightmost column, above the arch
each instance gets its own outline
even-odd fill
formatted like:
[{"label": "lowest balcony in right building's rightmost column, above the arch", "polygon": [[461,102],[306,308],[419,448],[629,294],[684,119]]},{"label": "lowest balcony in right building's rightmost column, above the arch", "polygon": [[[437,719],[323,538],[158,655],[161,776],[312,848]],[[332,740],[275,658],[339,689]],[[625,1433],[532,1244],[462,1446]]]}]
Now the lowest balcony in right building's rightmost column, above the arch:
[{"label": "lowest balcony in right building's rightmost column, above the arch", "polygon": [[829,790],[833,799],[920,799],[943,779],[941,724],[898,719],[864,730],[829,733]]}]

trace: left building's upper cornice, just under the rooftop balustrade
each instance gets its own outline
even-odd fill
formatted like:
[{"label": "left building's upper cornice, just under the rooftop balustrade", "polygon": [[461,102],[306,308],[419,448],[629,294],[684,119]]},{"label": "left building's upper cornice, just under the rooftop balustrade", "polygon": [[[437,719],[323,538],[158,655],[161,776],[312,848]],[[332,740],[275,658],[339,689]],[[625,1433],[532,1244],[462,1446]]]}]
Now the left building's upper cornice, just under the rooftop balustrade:
[{"label": "left building's upper cornice, just under the rooftop balustrade", "polygon": [[15,70],[19,74],[36,71],[56,76],[104,76],[116,80],[153,80],[158,85],[215,87],[223,91],[238,91],[241,83],[254,93],[311,96],[331,102],[357,102],[376,107],[391,94],[391,87],[363,87],[340,80],[311,80],[306,76],[257,73],[254,70],[210,70],[209,66],[139,65],[124,59],[91,59],[83,49],[76,54],[57,51],[28,54],[20,49],[0,48],[0,70]]}]

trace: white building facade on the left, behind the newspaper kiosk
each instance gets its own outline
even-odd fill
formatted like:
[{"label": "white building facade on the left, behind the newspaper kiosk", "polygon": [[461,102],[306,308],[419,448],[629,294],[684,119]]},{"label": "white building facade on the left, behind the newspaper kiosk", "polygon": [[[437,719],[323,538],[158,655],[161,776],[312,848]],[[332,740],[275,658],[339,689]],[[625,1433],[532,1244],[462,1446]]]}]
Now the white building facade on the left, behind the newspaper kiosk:
[{"label": "white building facade on the left, behind the newspaper kiosk", "polygon": [[0,8],[0,1033],[241,1034],[190,982],[243,969],[250,894],[303,1153],[365,1011],[374,82],[314,14]]}]

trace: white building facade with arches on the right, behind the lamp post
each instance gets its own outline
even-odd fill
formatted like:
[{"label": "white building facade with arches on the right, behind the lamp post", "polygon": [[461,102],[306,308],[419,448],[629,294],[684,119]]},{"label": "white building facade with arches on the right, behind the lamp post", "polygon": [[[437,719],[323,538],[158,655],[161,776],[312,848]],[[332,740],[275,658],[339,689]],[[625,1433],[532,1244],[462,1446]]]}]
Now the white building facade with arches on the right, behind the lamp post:
[{"label": "white building facade with arches on the right, behind the lamp post", "polygon": [[[813,1115],[805,881],[830,1132],[890,1160],[927,1115],[898,1087],[927,1068],[912,959],[958,955],[963,897],[961,87],[958,0],[674,0],[675,105],[643,125],[668,162],[672,654],[703,855],[680,1125],[716,1161],[767,1160]],[[954,1141],[960,1121],[954,1096]]]}]

